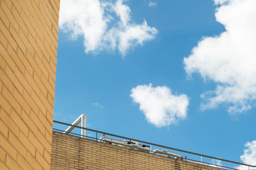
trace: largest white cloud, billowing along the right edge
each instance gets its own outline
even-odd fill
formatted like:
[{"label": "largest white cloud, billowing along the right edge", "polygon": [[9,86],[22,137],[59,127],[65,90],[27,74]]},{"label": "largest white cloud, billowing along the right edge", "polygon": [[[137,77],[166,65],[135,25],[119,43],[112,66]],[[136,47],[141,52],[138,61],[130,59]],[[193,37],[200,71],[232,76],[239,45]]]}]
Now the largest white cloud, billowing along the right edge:
[{"label": "largest white cloud, billowing along the right edge", "polygon": [[218,36],[204,37],[184,59],[194,72],[217,83],[202,94],[202,109],[228,105],[229,113],[250,109],[256,99],[256,1],[215,0],[216,20],[225,26]]}]

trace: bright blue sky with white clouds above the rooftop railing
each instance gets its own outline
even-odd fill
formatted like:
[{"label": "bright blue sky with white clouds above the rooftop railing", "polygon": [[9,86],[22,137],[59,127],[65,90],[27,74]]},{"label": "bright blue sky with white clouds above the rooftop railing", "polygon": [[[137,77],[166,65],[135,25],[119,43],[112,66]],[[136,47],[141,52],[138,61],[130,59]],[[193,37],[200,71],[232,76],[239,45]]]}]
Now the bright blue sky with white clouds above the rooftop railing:
[{"label": "bright blue sky with white clouds above the rooftop railing", "polygon": [[54,120],[255,164],[255,2],[63,0]]}]

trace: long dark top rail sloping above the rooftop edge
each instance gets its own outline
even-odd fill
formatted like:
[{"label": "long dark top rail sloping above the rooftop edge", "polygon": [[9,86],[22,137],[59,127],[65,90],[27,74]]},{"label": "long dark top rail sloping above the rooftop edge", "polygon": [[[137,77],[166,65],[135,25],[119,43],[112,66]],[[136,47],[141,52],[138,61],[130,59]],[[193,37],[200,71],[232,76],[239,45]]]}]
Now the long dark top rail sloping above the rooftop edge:
[{"label": "long dark top rail sloping above the rooftop edge", "polygon": [[[244,165],[244,166],[250,166],[250,167],[256,167],[256,165],[250,165],[250,164],[243,164],[243,163],[240,163],[240,162],[234,162],[234,161],[230,161],[228,159],[221,159],[221,158],[218,158],[218,157],[211,157],[211,156],[208,156],[206,154],[198,154],[196,152],[189,152],[189,151],[186,151],[186,150],[183,150],[183,149],[176,149],[174,147],[167,147],[167,146],[164,146],[164,145],[158,145],[158,144],[154,144],[154,143],[151,143],[151,142],[145,142],[143,140],[137,140],[137,139],[133,139],[133,138],[129,138],[129,137],[123,137],[123,136],[120,136],[120,135],[114,135],[112,133],[108,133],[108,132],[102,132],[102,131],[99,131],[99,130],[92,130],[90,128],[82,128],[80,126],[77,126],[77,125],[71,125],[69,123],[63,123],[63,122],[60,122],[60,121],[57,121],[57,120],[53,120],[54,123],[59,123],[59,124],[62,124],[62,125],[68,125],[68,126],[73,126],[75,128],[80,128],[80,129],[84,129],[84,130],[90,130],[92,132],[97,132],[97,133],[101,133],[103,135],[110,135],[110,136],[113,136],[113,137],[119,137],[119,138],[123,138],[123,139],[126,139],[126,140],[135,140],[137,142],[142,142],[142,143],[145,143],[145,144],[148,144],[148,145],[154,145],[156,147],[163,147],[163,148],[166,148],[166,149],[171,149],[171,150],[176,150],[178,152],[183,152],[183,153],[187,153],[187,154],[194,154],[194,155],[198,155],[198,156],[201,156],[201,157],[207,157],[207,158],[210,158],[210,159],[217,159],[217,160],[220,160],[220,161],[223,161],[223,162],[229,162],[229,163],[233,163],[233,164],[239,164],[239,165]],[[208,163],[206,163],[208,164]],[[231,169],[231,168],[229,168]]]}]

